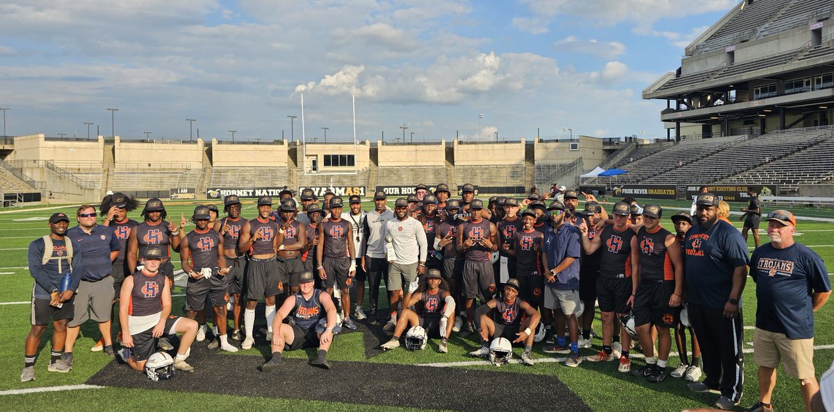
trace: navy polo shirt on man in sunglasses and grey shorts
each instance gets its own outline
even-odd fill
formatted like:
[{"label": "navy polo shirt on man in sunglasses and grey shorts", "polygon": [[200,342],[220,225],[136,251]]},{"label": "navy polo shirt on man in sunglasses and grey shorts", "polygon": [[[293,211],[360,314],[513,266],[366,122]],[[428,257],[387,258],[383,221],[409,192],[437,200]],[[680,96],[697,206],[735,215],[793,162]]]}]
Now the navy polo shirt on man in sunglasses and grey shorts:
[{"label": "navy polo shirt on man in sunglasses and grey shorts", "polygon": [[113,269],[110,252],[122,250],[122,246],[113,234],[113,228],[96,225],[88,235],[81,229],[81,226],[73,226],[67,231],[67,237],[81,246],[81,256],[84,260],[81,279],[102,280],[110,274]]}]

